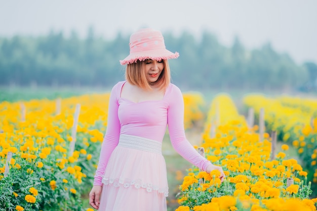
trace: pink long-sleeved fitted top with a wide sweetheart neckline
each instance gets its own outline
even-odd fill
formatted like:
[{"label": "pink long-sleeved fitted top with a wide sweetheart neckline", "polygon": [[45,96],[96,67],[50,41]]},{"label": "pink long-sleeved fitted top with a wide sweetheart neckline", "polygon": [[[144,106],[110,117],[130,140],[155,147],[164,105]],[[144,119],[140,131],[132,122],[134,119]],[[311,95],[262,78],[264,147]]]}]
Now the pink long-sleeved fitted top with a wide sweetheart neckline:
[{"label": "pink long-sleeved fitted top with a wide sweetheart neckline", "polygon": [[206,170],[211,162],[201,156],[185,136],[184,101],[180,89],[170,83],[162,100],[135,103],[121,98],[125,82],[116,83],[111,90],[108,126],[101,146],[94,185],[102,185],[102,175],[121,134],[162,142],[167,125],[173,148],[187,161]]}]

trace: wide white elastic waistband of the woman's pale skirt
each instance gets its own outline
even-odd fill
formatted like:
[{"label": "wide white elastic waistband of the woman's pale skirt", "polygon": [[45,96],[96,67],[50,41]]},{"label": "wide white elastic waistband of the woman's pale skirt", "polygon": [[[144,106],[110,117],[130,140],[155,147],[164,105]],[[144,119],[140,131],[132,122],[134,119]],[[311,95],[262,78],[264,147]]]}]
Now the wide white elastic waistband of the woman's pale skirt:
[{"label": "wide white elastic waistband of the woman's pale skirt", "polygon": [[162,154],[162,143],[139,136],[121,134],[118,146]]}]

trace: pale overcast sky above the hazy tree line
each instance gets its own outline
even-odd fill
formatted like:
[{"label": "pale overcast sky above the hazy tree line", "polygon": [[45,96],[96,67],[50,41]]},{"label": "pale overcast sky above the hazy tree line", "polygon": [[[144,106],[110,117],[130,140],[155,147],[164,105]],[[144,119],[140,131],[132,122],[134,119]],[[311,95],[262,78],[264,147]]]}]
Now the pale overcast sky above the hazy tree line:
[{"label": "pale overcast sky above the hazy tree line", "polygon": [[197,37],[207,29],[226,46],[235,35],[248,49],[270,41],[297,63],[317,63],[316,11],[316,0],[0,0],[0,36],[46,35],[53,29],[84,37],[90,25],[105,38],[140,27],[175,35],[187,30]]}]

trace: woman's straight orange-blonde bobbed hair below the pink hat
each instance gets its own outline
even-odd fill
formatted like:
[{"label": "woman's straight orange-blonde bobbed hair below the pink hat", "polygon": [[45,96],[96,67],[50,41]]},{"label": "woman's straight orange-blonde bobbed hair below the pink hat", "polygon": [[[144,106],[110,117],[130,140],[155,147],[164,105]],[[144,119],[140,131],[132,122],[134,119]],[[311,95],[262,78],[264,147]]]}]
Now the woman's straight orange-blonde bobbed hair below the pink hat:
[{"label": "woman's straight orange-blonde bobbed hair below the pink hat", "polygon": [[[163,60],[164,68],[159,79],[155,83],[160,90],[166,90],[171,82],[171,71],[167,60]],[[145,90],[151,90],[150,83],[145,76],[145,61],[137,61],[136,63],[128,64],[126,68],[126,80],[132,85],[136,85]]]}]

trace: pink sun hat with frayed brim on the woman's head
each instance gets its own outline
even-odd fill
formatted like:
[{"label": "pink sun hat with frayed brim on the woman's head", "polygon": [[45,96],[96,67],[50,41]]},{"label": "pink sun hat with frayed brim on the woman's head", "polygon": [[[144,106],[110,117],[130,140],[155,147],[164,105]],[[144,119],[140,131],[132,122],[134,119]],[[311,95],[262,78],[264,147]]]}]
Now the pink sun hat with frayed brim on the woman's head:
[{"label": "pink sun hat with frayed brim on the woman's head", "polygon": [[172,53],[166,49],[162,33],[151,28],[143,28],[133,33],[130,36],[129,46],[130,55],[120,60],[122,65],[132,64],[138,60],[161,61],[179,57],[178,52]]}]

